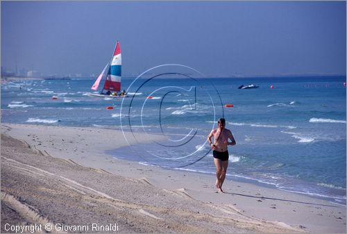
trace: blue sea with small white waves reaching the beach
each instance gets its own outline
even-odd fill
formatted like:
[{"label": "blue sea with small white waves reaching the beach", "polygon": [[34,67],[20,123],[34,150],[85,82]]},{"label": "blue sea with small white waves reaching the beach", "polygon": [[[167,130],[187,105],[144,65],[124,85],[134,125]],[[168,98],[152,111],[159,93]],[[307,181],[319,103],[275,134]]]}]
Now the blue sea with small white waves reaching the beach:
[{"label": "blue sea with small white waves reaching the beach", "polygon": [[[237,142],[229,147],[228,178],[346,204],[344,82],[345,76],[123,78],[129,95],[113,99],[89,97],[94,80],[87,78],[3,81],[1,122],[113,128],[130,131],[129,141],[140,133],[164,135],[107,153],[212,176],[206,138],[224,117]],[[260,87],[237,88],[251,83]]]}]

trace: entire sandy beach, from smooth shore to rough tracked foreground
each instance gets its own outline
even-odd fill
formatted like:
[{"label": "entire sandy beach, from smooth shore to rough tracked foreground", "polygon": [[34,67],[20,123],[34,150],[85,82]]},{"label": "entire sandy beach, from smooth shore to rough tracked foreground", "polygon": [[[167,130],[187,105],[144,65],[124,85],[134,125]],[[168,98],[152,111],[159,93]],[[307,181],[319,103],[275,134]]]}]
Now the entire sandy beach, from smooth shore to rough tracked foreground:
[{"label": "entire sandy beach, from smooth shore to rough tracked foreground", "polygon": [[230,179],[219,194],[214,176],[105,154],[127,144],[111,129],[1,124],[1,232],[346,233],[346,206]]}]

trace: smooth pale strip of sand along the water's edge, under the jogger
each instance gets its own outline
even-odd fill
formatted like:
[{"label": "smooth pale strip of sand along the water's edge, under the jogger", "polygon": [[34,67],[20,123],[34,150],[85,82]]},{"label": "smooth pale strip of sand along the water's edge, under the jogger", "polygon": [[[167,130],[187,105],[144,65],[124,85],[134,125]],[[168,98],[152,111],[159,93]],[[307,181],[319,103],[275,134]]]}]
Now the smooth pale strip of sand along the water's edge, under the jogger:
[{"label": "smooth pale strip of sand along the water's edge, under the jogger", "polygon": [[[185,194],[184,197],[191,197],[194,201],[203,203],[203,206],[212,203],[214,206],[232,207],[238,210],[243,218],[285,223],[295,228],[295,231],[293,229],[289,231],[291,233],[299,231],[344,233],[346,231],[346,206],[335,206],[323,199],[243,183],[236,179],[225,182],[224,194],[216,194],[214,176],[211,174],[150,167],[137,162],[112,158],[105,154],[105,149],[126,146],[126,142],[121,140],[121,137],[124,137],[119,131],[2,123],[1,133],[24,140],[28,145],[33,146],[33,149],[46,152],[53,157],[64,158],[82,167],[101,170],[131,180],[142,179],[143,183],[151,184],[160,191],[169,191],[169,193],[174,191],[175,194],[180,191],[180,194]],[[116,146],[112,144],[113,142],[107,141],[110,133],[119,137]],[[149,140],[151,139],[146,137],[142,139],[143,143]],[[90,147],[92,144],[95,147]],[[133,196],[130,191],[123,192],[128,197]],[[244,230],[249,232],[250,229]],[[219,230],[219,232],[224,231]],[[264,231],[255,230],[254,232]]]}]

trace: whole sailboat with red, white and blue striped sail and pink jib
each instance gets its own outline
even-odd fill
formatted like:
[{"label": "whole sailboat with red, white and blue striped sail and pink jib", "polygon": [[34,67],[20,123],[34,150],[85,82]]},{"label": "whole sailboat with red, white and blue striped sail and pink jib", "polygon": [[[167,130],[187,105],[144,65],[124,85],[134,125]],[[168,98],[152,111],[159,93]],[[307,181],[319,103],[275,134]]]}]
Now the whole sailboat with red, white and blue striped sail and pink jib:
[{"label": "whole sailboat with red, white and blue striped sail and pink jib", "polygon": [[99,94],[91,93],[94,97],[125,97],[125,92],[118,94],[121,91],[121,46],[117,41],[115,51],[113,52],[111,61],[105,66],[101,74],[96,78],[92,85],[92,90],[98,90],[101,80],[105,77],[103,89]]}]

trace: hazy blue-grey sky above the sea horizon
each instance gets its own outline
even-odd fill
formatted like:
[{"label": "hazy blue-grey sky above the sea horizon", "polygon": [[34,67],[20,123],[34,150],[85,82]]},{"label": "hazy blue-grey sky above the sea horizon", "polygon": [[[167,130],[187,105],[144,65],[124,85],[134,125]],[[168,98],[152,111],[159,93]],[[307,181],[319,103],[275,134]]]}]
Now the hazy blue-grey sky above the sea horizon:
[{"label": "hazy blue-grey sky above the sea horizon", "polygon": [[1,66],[123,74],[166,63],[203,74],[346,74],[346,1],[1,1]]}]

